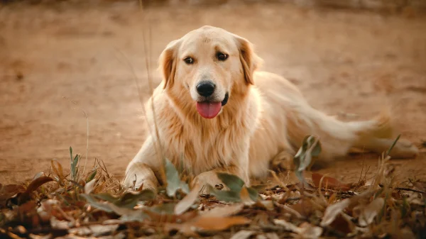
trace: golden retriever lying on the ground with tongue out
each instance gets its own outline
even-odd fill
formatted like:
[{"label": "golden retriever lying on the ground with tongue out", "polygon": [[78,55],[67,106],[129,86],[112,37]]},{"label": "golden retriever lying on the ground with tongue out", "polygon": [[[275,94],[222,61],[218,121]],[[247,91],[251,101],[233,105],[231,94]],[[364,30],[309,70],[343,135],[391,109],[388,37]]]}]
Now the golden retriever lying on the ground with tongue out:
[{"label": "golden retriever lying on the ground with tongue out", "polygon": [[[124,186],[156,191],[165,183],[164,158],[194,177],[192,187],[221,184],[217,172],[249,186],[271,163],[293,160],[306,135],[320,138],[318,162],[393,144],[389,113],[339,121],[312,108],[287,79],[258,70],[262,62],[249,40],[213,26],[170,42],[159,59],[163,81],[146,103],[151,134],[129,163]],[[399,140],[391,157],[418,152]]]}]

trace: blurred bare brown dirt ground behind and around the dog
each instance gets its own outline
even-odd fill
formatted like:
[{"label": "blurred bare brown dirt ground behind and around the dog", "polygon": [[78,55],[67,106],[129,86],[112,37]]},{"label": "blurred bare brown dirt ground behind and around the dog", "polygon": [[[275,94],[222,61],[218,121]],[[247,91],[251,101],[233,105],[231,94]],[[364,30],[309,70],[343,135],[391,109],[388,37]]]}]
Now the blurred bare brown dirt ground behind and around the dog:
[{"label": "blurred bare brown dirt ground behind and around the dog", "polygon": [[[426,140],[426,18],[385,16],[284,4],[152,8],[102,6],[0,7],[0,182],[48,172],[50,160],[69,165],[69,148],[89,162],[104,160],[124,176],[143,143],[143,111],[129,60],[148,96],[143,23],[152,29],[151,70],[165,45],[203,25],[244,36],[265,60],[263,70],[297,84],[330,114],[368,118],[393,106],[395,126],[419,147]],[[358,116],[353,116],[356,114]],[[398,133],[398,132],[397,132]],[[426,178],[426,152],[394,160],[401,177]],[[355,155],[322,173],[352,182],[378,155]]]}]

